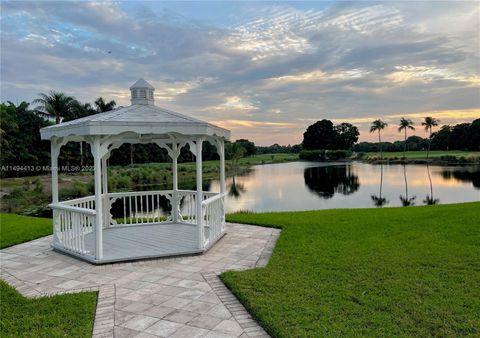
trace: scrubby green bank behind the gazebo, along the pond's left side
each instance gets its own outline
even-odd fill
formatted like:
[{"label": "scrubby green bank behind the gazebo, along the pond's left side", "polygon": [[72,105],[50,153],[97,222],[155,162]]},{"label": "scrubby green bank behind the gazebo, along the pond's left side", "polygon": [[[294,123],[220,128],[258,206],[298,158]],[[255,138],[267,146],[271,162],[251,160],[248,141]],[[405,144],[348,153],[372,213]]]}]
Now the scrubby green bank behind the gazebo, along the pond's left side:
[{"label": "scrubby green bank behind the gazebo, along the pond's left side", "polygon": [[[226,161],[226,174],[247,172],[258,164],[281,163],[298,160],[298,154],[265,154],[245,157],[234,168]],[[180,189],[195,188],[195,163],[178,166]],[[203,162],[203,181],[219,179],[219,161]],[[139,191],[170,189],[172,187],[171,163],[147,163],[128,166],[111,166],[108,172],[109,191]],[[50,175],[2,179],[0,212],[21,213],[31,216],[49,216],[51,201]],[[60,199],[71,199],[93,194],[93,173],[82,172],[59,175]]]}]

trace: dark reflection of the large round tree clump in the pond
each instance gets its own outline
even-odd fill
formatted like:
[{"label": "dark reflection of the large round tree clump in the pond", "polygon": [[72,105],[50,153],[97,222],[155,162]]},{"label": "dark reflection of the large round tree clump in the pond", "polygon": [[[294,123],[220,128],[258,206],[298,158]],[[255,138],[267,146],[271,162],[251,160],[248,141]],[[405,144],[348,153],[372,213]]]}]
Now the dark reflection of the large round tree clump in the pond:
[{"label": "dark reflection of the large round tree clump in the pond", "polygon": [[322,198],[331,198],[335,193],[350,195],[360,187],[350,165],[305,168],[303,177],[308,189]]}]

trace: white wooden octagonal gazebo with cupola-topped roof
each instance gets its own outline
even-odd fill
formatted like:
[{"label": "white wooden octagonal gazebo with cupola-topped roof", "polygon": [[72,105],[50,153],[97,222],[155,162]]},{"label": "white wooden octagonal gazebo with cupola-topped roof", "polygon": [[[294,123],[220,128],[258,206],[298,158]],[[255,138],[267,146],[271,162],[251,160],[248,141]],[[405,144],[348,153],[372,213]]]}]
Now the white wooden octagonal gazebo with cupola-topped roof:
[{"label": "white wooden octagonal gazebo with cupola-topped roof", "polygon": [[[131,106],[41,130],[42,139],[51,142],[54,249],[108,263],[202,253],[224,234],[224,141],[230,132],[155,106],[154,91],[140,79],[130,87]],[[59,201],[58,155],[70,141],[90,144],[95,195]],[[220,156],[218,192],[202,191],[204,141],[215,145]],[[173,162],[172,189],[109,193],[107,159],[123,143],[154,143],[166,149]],[[187,144],[196,159],[196,191],[178,189],[177,159]],[[159,211],[165,201],[171,206],[167,214]],[[113,203],[123,210],[115,217]]]}]

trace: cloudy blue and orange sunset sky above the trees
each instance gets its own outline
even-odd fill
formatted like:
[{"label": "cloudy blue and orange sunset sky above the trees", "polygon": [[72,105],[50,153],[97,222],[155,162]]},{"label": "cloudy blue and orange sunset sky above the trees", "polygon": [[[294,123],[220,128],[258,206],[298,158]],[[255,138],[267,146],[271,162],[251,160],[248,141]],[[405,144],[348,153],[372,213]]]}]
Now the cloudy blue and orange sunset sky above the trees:
[{"label": "cloudy blue and orange sunset sky above the trees", "polygon": [[297,144],[321,119],[375,141],[480,118],[480,2],[1,1],[1,100],[62,91],[158,106],[258,145]]}]

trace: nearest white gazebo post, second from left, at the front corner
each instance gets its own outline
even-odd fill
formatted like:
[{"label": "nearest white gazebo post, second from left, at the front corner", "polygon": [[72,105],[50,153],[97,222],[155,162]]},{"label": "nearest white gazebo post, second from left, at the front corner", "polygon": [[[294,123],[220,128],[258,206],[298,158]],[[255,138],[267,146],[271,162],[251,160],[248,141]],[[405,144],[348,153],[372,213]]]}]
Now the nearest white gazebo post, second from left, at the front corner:
[{"label": "nearest white gazebo post, second from left, at the front corner", "polygon": [[103,258],[103,218],[102,218],[102,158],[100,140],[95,137],[92,142],[95,177],[95,259]]}]

